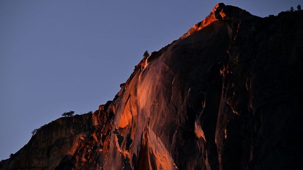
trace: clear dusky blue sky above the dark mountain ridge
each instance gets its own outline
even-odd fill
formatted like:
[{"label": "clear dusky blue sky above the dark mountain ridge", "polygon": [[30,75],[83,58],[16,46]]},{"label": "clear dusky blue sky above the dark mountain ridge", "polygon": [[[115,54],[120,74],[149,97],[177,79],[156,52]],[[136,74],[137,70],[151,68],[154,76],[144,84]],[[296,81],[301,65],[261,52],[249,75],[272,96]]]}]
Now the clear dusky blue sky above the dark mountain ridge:
[{"label": "clear dusky blue sky above the dark mountain ridge", "polygon": [[277,15],[301,0],[0,0],[0,160],[31,131],[112,100],[145,50],[166,46],[219,2]]}]

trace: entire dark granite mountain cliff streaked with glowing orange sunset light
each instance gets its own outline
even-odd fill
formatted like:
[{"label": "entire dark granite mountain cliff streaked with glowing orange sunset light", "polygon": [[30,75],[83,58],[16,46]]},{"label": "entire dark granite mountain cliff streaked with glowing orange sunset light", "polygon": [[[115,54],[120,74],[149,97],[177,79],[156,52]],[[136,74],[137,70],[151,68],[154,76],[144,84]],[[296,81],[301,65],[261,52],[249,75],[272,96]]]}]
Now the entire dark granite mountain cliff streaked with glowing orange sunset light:
[{"label": "entire dark granite mountain cliff streaked with glowing orange sunset light", "polygon": [[302,21],[219,3],[112,102],[47,124],[2,169],[302,169]]}]

